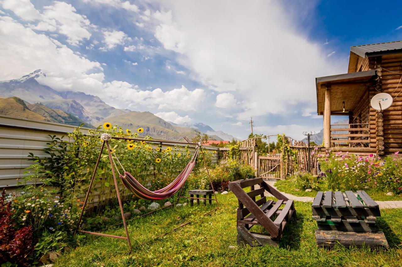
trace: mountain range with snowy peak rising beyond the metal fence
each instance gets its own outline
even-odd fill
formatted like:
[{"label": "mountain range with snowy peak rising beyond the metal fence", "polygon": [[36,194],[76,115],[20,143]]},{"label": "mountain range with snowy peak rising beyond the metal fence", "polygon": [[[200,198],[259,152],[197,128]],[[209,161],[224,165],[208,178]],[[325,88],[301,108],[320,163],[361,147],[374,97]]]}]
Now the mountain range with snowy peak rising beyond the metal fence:
[{"label": "mountain range with snowy peak rising beyond the metal fence", "polygon": [[70,125],[86,123],[87,127],[107,121],[133,131],[143,127],[142,135],[174,141],[184,140],[183,136],[191,139],[198,132],[208,134],[211,140],[238,140],[203,123],[177,125],[150,112],[117,109],[94,95],[58,92],[38,83],[36,79],[39,77],[46,75],[36,70],[19,79],[0,81],[0,97],[3,97],[0,99],[0,114]]}]

